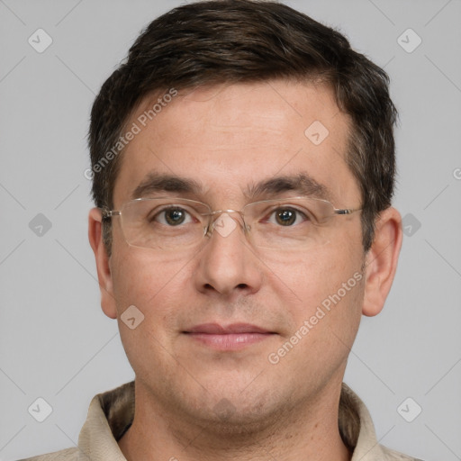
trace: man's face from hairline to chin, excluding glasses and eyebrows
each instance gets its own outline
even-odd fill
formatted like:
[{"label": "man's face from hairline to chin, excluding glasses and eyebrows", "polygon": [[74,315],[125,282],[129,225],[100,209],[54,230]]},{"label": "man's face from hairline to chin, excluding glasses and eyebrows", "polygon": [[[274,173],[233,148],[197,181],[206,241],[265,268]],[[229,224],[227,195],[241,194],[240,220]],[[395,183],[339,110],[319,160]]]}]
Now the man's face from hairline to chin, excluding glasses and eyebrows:
[{"label": "man's face from hairline to chin, excluding glasses and eyebrows", "polygon": [[[156,100],[144,101],[127,126]],[[316,121],[329,131],[323,140],[318,123],[305,133]],[[184,197],[212,210],[300,195],[248,196],[251,186],[300,174],[323,185],[336,208],[360,207],[345,161],[348,127],[325,86],[273,81],[180,93],[127,146],[114,209],[149,175],[201,189],[147,196]],[[152,402],[192,420],[225,413],[250,421],[339,385],[363,303],[360,214],[336,216],[321,231],[322,245],[296,251],[254,248],[240,226],[225,236],[214,230],[194,249],[164,251],[129,246],[113,218],[113,297],[105,297],[104,312],[117,315],[138,385]],[[133,330],[120,320],[131,305],[144,315]],[[227,333],[234,326],[234,335],[217,338],[217,325]]]}]

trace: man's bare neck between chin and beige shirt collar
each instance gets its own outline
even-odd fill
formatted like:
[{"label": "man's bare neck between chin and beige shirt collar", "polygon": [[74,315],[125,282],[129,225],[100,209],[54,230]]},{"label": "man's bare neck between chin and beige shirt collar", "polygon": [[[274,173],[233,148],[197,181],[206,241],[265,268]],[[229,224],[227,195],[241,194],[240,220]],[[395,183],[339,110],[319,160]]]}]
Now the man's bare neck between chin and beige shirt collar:
[{"label": "man's bare neck between chin and beige shirt collar", "polygon": [[338,426],[340,383],[264,421],[201,423],[167,411],[135,384],[135,417],[119,441],[128,461],[349,461]]}]

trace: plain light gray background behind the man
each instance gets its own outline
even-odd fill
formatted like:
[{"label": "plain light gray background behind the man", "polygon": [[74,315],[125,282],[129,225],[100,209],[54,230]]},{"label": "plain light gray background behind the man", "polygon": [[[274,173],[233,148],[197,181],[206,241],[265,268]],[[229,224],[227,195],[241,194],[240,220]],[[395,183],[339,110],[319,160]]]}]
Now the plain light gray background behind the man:
[{"label": "plain light gray background behind the man", "polygon": [[[461,459],[461,2],[286,3],[384,67],[400,110],[395,205],[409,235],[345,381],[381,443]],[[95,393],[133,377],[116,322],[100,309],[86,238],[86,131],[95,94],[141,28],[180,4],[0,0],[0,460],[74,446]],[[39,28],[53,40],[42,53],[28,43]],[[412,52],[409,28],[422,40]],[[51,223],[41,235],[38,213]],[[38,397],[53,409],[41,423],[28,412]],[[397,411],[407,397],[422,408],[411,422]],[[416,408],[405,407],[407,418]]]}]

